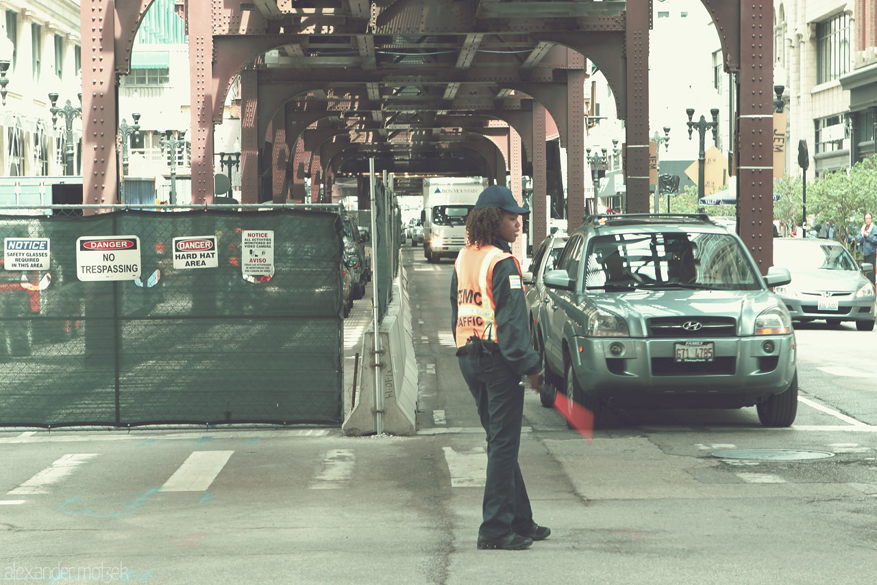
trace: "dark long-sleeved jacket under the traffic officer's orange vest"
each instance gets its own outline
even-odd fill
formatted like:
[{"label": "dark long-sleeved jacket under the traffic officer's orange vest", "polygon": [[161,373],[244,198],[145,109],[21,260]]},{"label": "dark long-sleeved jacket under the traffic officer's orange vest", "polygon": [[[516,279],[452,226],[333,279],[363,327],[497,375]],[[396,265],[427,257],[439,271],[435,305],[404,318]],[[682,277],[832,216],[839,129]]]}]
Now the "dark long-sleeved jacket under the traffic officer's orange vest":
[{"label": "dark long-sleeved jacket under the traffic officer's orange vest", "polygon": [[[494,244],[503,252],[511,252],[509,242],[496,241]],[[506,258],[496,263],[493,273],[493,296],[496,302],[496,333],[499,350],[509,367],[519,374],[534,374],[542,370],[541,359],[530,344],[530,320],[527,317],[527,301],[524,298],[524,285],[512,289],[509,277],[517,276],[514,258]],[[451,331],[457,336],[457,270],[451,277]]]}]

